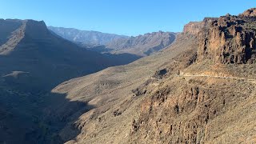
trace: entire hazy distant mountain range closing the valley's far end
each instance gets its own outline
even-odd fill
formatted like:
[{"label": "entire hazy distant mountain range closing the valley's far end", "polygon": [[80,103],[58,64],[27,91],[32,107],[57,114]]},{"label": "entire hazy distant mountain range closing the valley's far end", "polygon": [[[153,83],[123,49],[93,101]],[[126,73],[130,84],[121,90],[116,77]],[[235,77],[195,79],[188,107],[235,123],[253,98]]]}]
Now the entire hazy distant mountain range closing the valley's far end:
[{"label": "entire hazy distant mountain range closing the valley's far end", "polygon": [[48,26],[55,34],[66,38],[79,46],[101,53],[110,52],[112,54],[136,54],[146,56],[174,42],[175,33],[153,32],[136,37],[128,37],[118,34],[105,34],[97,31],[77,30],[72,28],[62,28]]}]

